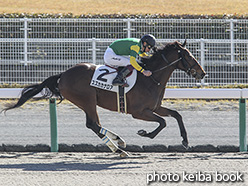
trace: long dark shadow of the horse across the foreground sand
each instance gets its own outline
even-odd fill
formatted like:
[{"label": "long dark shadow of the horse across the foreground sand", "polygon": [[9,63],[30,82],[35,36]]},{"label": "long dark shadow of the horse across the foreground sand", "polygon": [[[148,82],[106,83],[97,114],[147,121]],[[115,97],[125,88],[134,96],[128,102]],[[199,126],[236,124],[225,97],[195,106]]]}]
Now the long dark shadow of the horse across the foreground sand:
[{"label": "long dark shadow of the horse across the foreground sand", "polygon": [[[120,167],[120,165],[128,166]],[[101,170],[123,170],[140,168],[137,162],[116,162],[116,163],[78,163],[78,162],[56,162],[56,163],[21,163],[1,164],[0,169],[21,169],[22,171],[101,171]]]}]

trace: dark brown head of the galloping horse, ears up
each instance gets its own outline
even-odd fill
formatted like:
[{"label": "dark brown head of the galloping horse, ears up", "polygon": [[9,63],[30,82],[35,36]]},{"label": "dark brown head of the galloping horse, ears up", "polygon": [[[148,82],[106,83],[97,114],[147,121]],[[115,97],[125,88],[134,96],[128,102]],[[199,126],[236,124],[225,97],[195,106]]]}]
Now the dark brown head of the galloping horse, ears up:
[{"label": "dark brown head of the galloping horse, ears up", "polygon": [[206,72],[203,70],[192,53],[187,48],[185,48],[185,45],[186,40],[183,44],[175,42],[178,58],[181,59],[177,64],[177,68],[185,71],[188,75],[192,75],[197,80],[203,79],[206,75]]}]

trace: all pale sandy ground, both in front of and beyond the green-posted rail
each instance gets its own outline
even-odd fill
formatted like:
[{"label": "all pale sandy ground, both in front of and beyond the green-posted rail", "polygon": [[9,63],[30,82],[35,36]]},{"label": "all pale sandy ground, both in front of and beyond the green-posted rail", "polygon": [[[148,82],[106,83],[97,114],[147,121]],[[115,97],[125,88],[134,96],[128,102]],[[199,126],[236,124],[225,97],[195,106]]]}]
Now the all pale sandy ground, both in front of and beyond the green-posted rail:
[{"label": "all pale sandy ground, both in front of and beyond the green-posted rail", "polygon": [[[8,101],[0,101],[0,109]],[[183,116],[191,145],[238,145],[238,101],[166,101]],[[102,125],[120,134],[127,144],[181,143],[174,119],[155,139],[139,129],[157,125],[98,109]],[[84,113],[69,103],[57,107],[58,141],[101,144],[85,127]],[[0,115],[0,143],[50,144],[47,101],[29,102]],[[0,153],[0,185],[248,185],[248,153],[132,153],[121,159],[112,153]],[[224,179],[224,180],[223,180]],[[231,181],[230,181],[231,179]],[[229,180],[229,181],[228,181]]]}]

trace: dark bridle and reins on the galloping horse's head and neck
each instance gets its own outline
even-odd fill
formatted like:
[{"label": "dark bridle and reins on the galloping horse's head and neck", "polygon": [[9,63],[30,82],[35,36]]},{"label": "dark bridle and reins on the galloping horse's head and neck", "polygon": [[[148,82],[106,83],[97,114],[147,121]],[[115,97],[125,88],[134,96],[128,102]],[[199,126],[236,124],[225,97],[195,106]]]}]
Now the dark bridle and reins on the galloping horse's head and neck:
[{"label": "dark bridle and reins on the galloping horse's head and neck", "polygon": [[[182,55],[182,52],[181,52],[180,49],[178,50],[178,54],[179,54],[179,58],[176,59],[175,61],[171,62],[171,63],[167,60],[167,58],[165,57],[164,54],[161,54],[162,59],[166,62],[167,65],[165,65],[165,66],[163,66],[163,67],[161,67],[161,68],[159,68],[159,69],[157,69],[157,70],[154,70],[152,73],[156,73],[156,72],[159,72],[159,71],[161,71],[161,70],[164,70],[164,69],[166,69],[166,68],[168,68],[168,67],[170,67],[170,66],[172,66],[172,65],[174,65],[174,64],[176,64],[177,62],[179,62],[179,61],[182,60],[183,67],[184,67],[185,69],[187,69],[185,72],[186,72],[188,75],[190,75],[190,74],[192,74],[192,75],[193,75],[193,74],[196,74],[196,70],[194,69],[194,67],[195,67],[196,64],[190,65],[190,63],[189,63],[189,62],[185,59],[185,57]],[[152,79],[158,86],[160,85],[160,83],[159,83],[158,81],[156,81],[152,76],[150,76],[150,77],[151,77],[151,79]]]}]

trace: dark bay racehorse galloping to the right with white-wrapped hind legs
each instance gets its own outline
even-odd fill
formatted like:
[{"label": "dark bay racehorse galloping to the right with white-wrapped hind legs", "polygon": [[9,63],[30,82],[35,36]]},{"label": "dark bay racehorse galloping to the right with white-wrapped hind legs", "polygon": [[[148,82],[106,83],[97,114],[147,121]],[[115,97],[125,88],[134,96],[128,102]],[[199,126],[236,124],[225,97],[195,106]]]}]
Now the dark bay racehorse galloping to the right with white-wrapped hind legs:
[{"label": "dark bay racehorse galloping to the right with white-wrapped hind legs", "polygon": [[[154,138],[166,127],[166,122],[162,117],[172,116],[178,122],[183,138],[182,144],[187,148],[188,138],[181,115],[177,111],[161,106],[166,83],[175,69],[185,71],[195,79],[202,79],[206,74],[191,52],[185,48],[185,45],[186,40],[183,44],[177,41],[168,43],[154,49],[153,55],[141,58],[143,68],[152,71],[152,76],[145,77],[141,73],[137,73],[137,82],[127,93],[126,100],[127,113],[131,114],[133,118],[154,121],[159,124],[152,132],[138,131],[140,136]],[[90,86],[95,69],[96,65],[94,64],[82,63],[61,74],[51,76],[40,84],[27,86],[22,90],[18,102],[6,107],[4,111],[20,107],[27,100],[42,92],[43,88],[46,88],[45,97],[57,96],[61,101],[64,97],[84,110],[86,126],[93,130],[113,152],[119,153],[122,157],[127,156],[128,153],[123,150],[126,147],[125,141],[100,124],[97,105],[117,111],[117,99],[114,92]],[[116,141],[118,145],[113,141]]]}]

